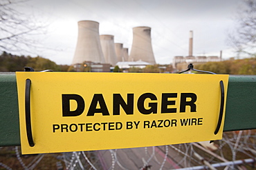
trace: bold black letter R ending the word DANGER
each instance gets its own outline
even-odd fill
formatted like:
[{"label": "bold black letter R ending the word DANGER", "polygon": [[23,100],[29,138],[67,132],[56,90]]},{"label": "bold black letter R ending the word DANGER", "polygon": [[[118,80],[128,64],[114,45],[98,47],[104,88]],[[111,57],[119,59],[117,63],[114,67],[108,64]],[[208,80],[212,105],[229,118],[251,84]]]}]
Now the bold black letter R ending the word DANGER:
[{"label": "bold black letter R ending the word DANGER", "polygon": [[[190,98],[190,101],[187,101]],[[193,93],[181,93],[181,105],[180,112],[185,112],[186,106],[190,106],[190,112],[196,112],[196,102],[197,96]]]}]

